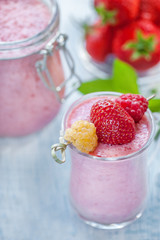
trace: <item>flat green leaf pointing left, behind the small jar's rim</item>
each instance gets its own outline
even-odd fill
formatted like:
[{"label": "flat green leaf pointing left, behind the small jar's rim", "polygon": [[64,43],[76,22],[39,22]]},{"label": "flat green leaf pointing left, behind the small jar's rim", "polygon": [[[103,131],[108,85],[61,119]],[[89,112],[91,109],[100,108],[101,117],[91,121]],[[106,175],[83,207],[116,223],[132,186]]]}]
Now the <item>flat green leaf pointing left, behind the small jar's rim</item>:
[{"label": "flat green leaf pointing left, behind the small jar's rim", "polygon": [[81,93],[87,94],[101,91],[114,91],[111,79],[96,79],[84,82],[78,89]]}]

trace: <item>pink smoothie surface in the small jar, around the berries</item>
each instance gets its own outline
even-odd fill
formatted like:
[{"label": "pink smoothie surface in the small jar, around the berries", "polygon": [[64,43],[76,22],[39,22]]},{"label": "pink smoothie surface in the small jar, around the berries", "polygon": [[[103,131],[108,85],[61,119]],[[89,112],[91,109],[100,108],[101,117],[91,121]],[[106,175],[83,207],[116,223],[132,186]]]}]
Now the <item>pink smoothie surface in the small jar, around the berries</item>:
[{"label": "pink smoothie surface in the small jar, around the berries", "polygon": [[[106,97],[99,96],[84,100],[82,103],[74,107],[67,118],[66,127],[71,127],[72,123],[77,120],[90,121],[90,109],[92,105],[99,99]],[[108,97],[114,101],[115,97]],[[122,157],[140,150],[147,142],[150,135],[149,122],[144,115],[139,123],[136,123],[136,135],[132,142],[123,145],[109,145],[99,143],[96,150],[90,154],[97,157]]]}]

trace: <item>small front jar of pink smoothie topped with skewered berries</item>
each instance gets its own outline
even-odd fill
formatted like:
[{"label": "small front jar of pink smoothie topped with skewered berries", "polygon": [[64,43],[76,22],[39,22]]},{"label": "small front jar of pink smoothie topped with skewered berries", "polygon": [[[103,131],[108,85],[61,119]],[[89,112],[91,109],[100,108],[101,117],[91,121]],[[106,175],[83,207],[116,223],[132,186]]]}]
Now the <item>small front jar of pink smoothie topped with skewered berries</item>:
[{"label": "small front jar of pink smoothie topped with skewered berries", "polygon": [[71,203],[86,223],[102,229],[122,228],[139,218],[148,195],[154,120],[147,107],[141,119],[130,116],[117,103],[120,95],[98,92],[76,101],[64,116],[60,144],[52,146],[60,163],[69,147]]}]

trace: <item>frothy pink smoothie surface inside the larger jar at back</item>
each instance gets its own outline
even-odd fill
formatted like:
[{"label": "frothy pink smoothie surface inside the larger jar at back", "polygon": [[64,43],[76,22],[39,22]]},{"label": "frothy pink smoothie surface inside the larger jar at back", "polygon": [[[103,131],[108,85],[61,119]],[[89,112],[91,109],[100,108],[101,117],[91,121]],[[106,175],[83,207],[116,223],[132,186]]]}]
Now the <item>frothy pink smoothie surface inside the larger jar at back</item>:
[{"label": "frothy pink smoothie surface inside the larger jar at back", "polygon": [[38,0],[0,1],[0,41],[12,42],[30,38],[43,31],[51,14]]}]

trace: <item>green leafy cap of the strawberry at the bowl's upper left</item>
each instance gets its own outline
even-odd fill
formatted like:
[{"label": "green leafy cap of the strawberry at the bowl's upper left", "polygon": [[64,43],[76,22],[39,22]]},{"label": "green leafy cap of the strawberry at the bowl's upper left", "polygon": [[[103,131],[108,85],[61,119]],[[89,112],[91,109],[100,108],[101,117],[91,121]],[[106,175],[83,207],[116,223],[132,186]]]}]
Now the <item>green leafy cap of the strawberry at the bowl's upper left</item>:
[{"label": "green leafy cap of the strawberry at the bowl's upper left", "polygon": [[99,4],[97,7],[95,7],[96,12],[102,19],[102,23],[110,23],[115,25],[116,24],[116,15],[117,10],[107,10],[104,6],[104,4]]}]

